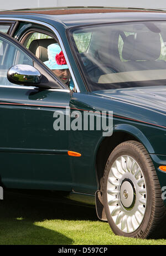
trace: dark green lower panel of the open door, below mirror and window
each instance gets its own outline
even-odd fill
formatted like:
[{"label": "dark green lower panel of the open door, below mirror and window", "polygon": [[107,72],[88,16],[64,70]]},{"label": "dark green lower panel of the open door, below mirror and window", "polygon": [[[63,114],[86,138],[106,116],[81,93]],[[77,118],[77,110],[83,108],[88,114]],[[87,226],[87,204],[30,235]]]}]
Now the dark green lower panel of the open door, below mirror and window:
[{"label": "dark green lower panel of the open door, below mirror and window", "polygon": [[[1,88],[0,101],[1,163],[8,162],[8,155],[11,156],[1,171],[4,185],[42,189],[58,186],[60,190],[65,187],[69,190],[69,131],[55,131],[53,115],[69,106],[70,92]],[[23,167],[25,162],[33,167],[28,164]]]}]

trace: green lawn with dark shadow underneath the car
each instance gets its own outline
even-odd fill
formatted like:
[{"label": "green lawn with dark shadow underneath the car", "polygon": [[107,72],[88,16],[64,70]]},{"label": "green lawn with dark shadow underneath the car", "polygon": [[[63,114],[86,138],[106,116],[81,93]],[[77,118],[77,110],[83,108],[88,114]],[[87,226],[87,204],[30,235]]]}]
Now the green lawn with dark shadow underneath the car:
[{"label": "green lawn with dark shadow underneath the car", "polygon": [[4,193],[0,201],[1,245],[164,245],[165,239],[119,237],[95,208]]}]

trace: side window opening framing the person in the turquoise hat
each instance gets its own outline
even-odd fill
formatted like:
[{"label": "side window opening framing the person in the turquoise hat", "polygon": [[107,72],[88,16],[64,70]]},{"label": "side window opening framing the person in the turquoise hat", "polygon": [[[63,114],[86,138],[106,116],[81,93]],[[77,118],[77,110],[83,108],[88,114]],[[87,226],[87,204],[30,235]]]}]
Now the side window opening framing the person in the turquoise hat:
[{"label": "side window opening framing the person in the turquoise hat", "polygon": [[[87,49],[90,42],[90,36],[87,37],[86,35],[86,38],[84,49]],[[82,37],[77,38],[78,41],[83,39]],[[65,85],[68,85],[71,90],[74,90],[74,82],[71,79],[71,74],[58,40],[43,33],[29,32],[25,35],[25,38],[22,39],[22,43],[38,59],[42,60],[55,76],[58,76]],[[55,59],[56,55],[58,55],[58,62],[56,62]]]}]

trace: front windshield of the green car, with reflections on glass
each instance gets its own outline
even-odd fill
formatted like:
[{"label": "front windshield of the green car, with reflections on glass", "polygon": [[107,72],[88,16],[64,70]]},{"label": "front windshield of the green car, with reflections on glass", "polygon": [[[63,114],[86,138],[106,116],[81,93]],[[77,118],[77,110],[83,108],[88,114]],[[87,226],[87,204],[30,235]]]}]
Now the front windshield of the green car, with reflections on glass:
[{"label": "front windshield of the green car, with reflections on glass", "polygon": [[166,85],[166,22],[89,25],[70,38],[90,91]]}]

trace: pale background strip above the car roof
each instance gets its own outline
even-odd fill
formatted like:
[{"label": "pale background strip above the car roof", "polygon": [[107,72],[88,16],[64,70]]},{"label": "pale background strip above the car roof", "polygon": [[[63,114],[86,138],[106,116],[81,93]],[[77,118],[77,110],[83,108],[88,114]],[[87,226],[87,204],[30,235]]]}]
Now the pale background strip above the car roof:
[{"label": "pale background strip above the car roof", "polygon": [[165,0],[0,0],[0,3],[0,10],[67,6],[105,6],[166,9]]}]

